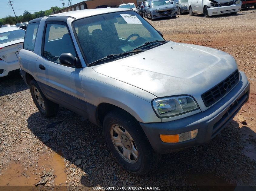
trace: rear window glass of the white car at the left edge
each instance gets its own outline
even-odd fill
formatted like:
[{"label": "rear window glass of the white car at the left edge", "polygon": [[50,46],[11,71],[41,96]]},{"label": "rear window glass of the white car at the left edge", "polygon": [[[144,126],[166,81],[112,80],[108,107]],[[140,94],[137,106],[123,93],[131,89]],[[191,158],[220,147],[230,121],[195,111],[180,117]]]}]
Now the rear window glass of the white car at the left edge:
[{"label": "rear window glass of the white car at the left edge", "polygon": [[21,29],[0,33],[0,44],[23,39],[24,36],[25,36],[25,30],[21,30]]}]

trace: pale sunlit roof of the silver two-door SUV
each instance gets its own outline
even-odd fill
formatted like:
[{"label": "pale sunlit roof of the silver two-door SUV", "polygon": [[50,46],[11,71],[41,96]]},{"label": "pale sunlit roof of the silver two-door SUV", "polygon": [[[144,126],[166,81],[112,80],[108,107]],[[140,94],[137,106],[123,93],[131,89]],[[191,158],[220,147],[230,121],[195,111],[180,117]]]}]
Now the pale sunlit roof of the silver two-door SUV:
[{"label": "pale sunlit roof of the silver two-door SUV", "polygon": [[112,12],[118,12],[118,11],[131,11],[131,9],[126,9],[126,8],[84,9],[84,10],[78,10],[78,11],[68,11],[64,13],[52,14],[49,16],[50,17],[68,16],[68,17],[73,17],[75,19],[79,19],[79,18],[89,17],[97,14],[105,14],[105,13],[112,13]]}]

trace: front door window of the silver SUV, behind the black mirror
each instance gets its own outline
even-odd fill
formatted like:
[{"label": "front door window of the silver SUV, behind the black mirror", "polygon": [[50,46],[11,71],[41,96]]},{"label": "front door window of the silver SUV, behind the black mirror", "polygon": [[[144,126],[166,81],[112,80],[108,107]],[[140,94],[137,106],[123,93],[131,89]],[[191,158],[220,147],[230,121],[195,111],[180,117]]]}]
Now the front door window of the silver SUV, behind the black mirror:
[{"label": "front door window of the silver SUV, behind the black mirror", "polygon": [[43,56],[53,62],[60,63],[62,53],[71,53],[76,56],[68,29],[63,24],[47,24]]}]

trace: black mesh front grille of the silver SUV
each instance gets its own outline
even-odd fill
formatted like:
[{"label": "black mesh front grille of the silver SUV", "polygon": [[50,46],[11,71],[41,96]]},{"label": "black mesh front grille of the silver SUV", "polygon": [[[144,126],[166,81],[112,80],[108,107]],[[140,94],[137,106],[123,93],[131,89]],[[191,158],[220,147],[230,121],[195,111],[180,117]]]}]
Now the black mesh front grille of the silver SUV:
[{"label": "black mesh front grille of the silver SUV", "polygon": [[204,105],[211,106],[213,103],[221,99],[228,91],[230,91],[239,81],[239,72],[236,70],[228,78],[211,88],[209,91],[201,95]]}]

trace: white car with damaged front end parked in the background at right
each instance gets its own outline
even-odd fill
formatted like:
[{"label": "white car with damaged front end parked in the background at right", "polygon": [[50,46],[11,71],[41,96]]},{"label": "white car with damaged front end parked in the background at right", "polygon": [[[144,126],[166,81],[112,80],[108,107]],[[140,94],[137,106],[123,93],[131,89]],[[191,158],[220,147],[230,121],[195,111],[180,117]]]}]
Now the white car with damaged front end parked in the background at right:
[{"label": "white car with damaged front end parked in the background at right", "polygon": [[218,14],[237,14],[241,10],[240,0],[188,0],[190,16],[195,13],[203,13],[204,17]]}]

